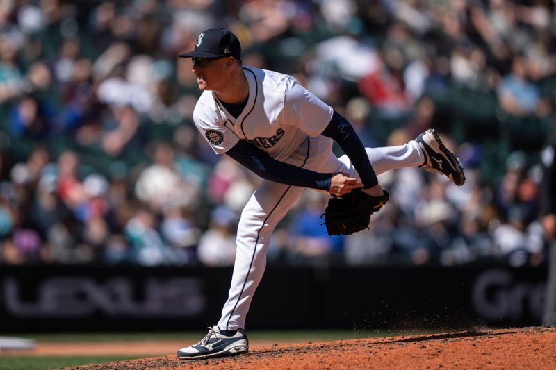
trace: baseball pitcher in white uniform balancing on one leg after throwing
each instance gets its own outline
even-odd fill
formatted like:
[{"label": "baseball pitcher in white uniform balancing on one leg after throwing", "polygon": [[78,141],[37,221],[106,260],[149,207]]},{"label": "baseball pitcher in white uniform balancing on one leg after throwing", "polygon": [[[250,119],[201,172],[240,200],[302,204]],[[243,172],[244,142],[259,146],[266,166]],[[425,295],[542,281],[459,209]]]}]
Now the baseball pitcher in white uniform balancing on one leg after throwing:
[{"label": "baseball pitcher in white uniform balancing on one leg after throwing", "polygon": [[[400,146],[365,148],[350,123],[292,76],[242,65],[236,35],[209,29],[191,58],[202,95],[195,125],[215,153],[261,176],[240,217],[231,287],[222,315],[180,359],[247,353],[245,317],[266,264],[272,230],[305,187],[332,195],[325,212],[329,234],[366,228],[370,215],[389,201],[377,174],[420,166],[463,185],[455,155],[432,130]],[[333,140],[345,155],[332,153]]]}]

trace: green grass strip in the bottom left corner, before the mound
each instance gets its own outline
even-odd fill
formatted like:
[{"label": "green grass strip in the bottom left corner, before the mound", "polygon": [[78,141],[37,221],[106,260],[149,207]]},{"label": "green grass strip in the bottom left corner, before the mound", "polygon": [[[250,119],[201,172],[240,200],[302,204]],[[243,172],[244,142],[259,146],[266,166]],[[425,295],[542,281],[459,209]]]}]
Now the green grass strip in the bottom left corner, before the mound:
[{"label": "green grass strip in the bottom left corner, before the mound", "polygon": [[46,370],[60,367],[102,364],[104,362],[131,360],[137,357],[122,356],[17,356],[0,355],[1,370]]}]

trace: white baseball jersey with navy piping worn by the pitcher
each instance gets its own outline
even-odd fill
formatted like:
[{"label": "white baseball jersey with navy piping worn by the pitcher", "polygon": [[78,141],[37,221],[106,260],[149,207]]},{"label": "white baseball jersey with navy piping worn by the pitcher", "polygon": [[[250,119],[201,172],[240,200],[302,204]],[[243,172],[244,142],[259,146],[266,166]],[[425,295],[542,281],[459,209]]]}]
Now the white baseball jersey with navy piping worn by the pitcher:
[{"label": "white baseball jersey with navy piping worn by the pitcher", "polygon": [[[215,153],[222,154],[247,140],[270,157],[300,165],[295,152],[307,137],[318,137],[329,124],[333,110],[292,76],[254,67],[244,67],[249,98],[236,119],[227,112],[214,92],[199,98],[193,119]],[[332,140],[320,137],[331,148]],[[319,140],[319,141],[320,141]],[[328,154],[328,153],[326,153]]]}]

